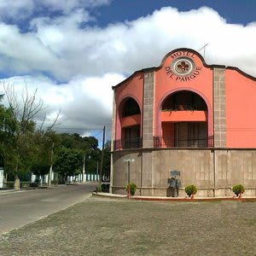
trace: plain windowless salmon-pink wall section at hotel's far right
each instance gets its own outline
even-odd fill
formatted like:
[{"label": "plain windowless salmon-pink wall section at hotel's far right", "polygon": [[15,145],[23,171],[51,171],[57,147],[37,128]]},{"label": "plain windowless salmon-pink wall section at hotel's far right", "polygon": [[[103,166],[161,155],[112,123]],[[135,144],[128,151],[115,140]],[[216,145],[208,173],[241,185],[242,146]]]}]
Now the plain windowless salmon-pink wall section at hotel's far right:
[{"label": "plain windowless salmon-pink wall section at hotel's far right", "polygon": [[226,69],[227,147],[256,148],[256,80]]}]

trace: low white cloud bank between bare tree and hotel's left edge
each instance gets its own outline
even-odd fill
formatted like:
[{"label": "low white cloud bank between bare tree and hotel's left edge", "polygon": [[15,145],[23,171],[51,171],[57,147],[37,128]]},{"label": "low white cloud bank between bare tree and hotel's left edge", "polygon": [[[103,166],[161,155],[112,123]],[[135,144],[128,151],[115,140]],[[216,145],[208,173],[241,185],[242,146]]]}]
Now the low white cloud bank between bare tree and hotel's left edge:
[{"label": "low white cloud bank between bare tree and hotel's left edge", "polygon": [[67,84],[55,84],[54,81],[42,76],[13,77],[0,80],[0,94],[3,93],[3,83],[14,84],[17,96],[21,95],[26,85],[31,93],[38,90],[38,99],[44,101],[46,108],[38,115],[38,119],[42,120],[46,113],[45,125],[52,124],[56,113],[61,109],[61,125],[58,125],[58,128],[64,131],[78,129],[85,132],[101,129],[104,124],[108,124],[110,129],[113,103],[111,87],[124,79],[122,75],[107,73],[102,77],[79,76]]}]

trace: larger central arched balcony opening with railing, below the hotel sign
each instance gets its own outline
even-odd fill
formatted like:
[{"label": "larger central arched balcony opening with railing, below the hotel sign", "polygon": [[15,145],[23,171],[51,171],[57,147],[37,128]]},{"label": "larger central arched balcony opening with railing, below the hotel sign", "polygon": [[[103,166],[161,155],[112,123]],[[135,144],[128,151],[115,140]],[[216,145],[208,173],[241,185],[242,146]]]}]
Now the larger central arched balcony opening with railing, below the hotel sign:
[{"label": "larger central arched balcony opening with railing, below the hotel sign", "polygon": [[195,92],[181,90],[167,96],[160,118],[161,137],[154,137],[155,148],[212,147],[207,103]]}]

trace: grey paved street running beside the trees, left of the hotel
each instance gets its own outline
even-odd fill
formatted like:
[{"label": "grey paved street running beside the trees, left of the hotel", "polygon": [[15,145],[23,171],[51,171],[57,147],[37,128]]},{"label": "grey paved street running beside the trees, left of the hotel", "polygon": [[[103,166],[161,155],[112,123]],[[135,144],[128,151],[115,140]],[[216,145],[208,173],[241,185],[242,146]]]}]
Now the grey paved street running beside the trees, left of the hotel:
[{"label": "grey paved street running beside the trees, left of the hotel", "polygon": [[95,189],[96,183],[86,183],[20,192],[0,191],[0,234],[83,201]]}]

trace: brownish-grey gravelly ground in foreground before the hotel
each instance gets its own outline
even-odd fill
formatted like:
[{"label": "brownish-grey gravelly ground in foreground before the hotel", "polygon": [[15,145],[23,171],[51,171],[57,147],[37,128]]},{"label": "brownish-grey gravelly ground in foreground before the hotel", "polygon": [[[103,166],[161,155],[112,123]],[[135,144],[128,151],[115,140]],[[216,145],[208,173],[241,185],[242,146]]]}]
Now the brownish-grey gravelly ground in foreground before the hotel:
[{"label": "brownish-grey gravelly ground in foreground before the hotel", "polygon": [[255,256],[256,203],[91,197],[3,234],[0,248],[3,256]]}]

